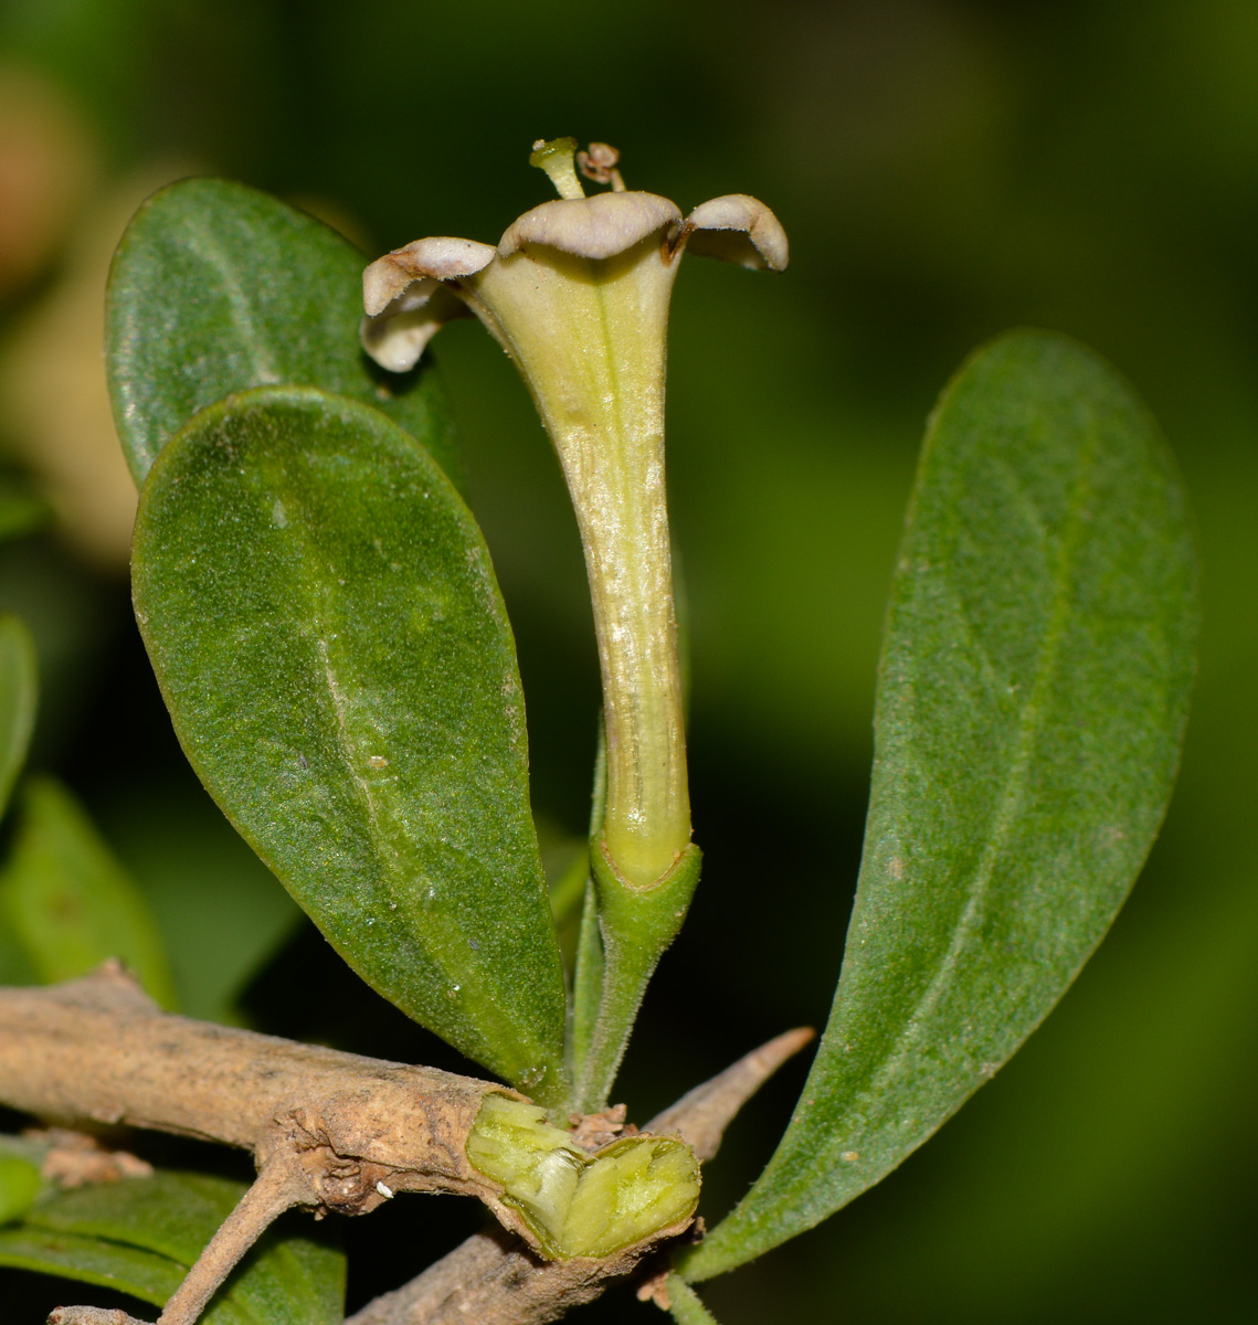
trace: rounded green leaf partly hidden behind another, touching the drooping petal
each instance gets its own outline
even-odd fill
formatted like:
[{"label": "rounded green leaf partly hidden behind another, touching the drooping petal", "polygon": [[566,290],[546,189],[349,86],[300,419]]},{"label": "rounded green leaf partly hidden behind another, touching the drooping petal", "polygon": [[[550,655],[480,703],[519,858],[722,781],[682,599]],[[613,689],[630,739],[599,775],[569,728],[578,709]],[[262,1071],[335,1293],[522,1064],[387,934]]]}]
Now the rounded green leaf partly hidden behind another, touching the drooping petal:
[{"label": "rounded green leaf partly hidden behind another, touching the drooping petal", "polygon": [[137,484],[199,409],[289,383],[382,409],[460,482],[436,375],[384,372],[358,343],[365,266],[322,221],[244,184],[154,193],[118,246],[106,306],[114,421]]}]

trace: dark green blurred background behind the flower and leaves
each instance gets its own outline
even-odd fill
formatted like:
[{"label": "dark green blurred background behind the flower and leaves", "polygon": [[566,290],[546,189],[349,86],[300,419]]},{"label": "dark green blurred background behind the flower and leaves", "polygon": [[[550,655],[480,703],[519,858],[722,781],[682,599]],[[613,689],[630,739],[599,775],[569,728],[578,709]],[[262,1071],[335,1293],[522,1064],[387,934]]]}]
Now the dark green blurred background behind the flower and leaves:
[{"label": "dark green blurred background behind the flower and leaves", "polygon": [[[561,134],[615,143],[630,187],[683,209],[754,193],[791,237],[785,276],[688,260],[675,297],[669,477],[707,864],[626,1064],[632,1116],[787,1026],[823,1024],[883,598],[921,427],[964,355],[1015,323],[1100,350],[1160,419],[1200,523],[1182,778],[1112,937],[936,1140],[709,1285],[715,1313],[1254,1320],[1251,0],[0,0],[0,436],[61,517],[0,554],[0,606],[40,639],[37,763],[148,892],[190,1011],[455,1065],[343,973],[182,771],[129,615],[134,496],[103,404],[101,298],[129,212],[167,179],[272,189],[375,256],[429,233],[496,240],[547,193],[529,144]],[[481,329],[452,326],[436,358],[517,628],[536,806],[562,855],[587,811],[598,705],[571,515]],[[711,1166],[709,1220],[766,1158],[802,1071]],[[345,1230],[355,1302],[475,1227],[433,1206]],[[7,1325],[65,1296],[0,1276]],[[587,1314],[647,1310],[620,1293]]]}]

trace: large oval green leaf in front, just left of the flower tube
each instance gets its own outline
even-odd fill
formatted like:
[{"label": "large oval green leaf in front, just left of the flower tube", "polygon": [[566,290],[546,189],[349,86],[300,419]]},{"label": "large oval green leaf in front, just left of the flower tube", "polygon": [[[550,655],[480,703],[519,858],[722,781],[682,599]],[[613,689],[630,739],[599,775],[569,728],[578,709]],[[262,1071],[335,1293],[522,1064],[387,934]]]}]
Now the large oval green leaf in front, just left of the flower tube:
[{"label": "large oval green leaf in front, just left of the flower tube", "polygon": [[440,468],[353,401],[232,398],[154,465],[133,584],[192,766],[333,946],[554,1097],[563,975],[514,641]]}]

